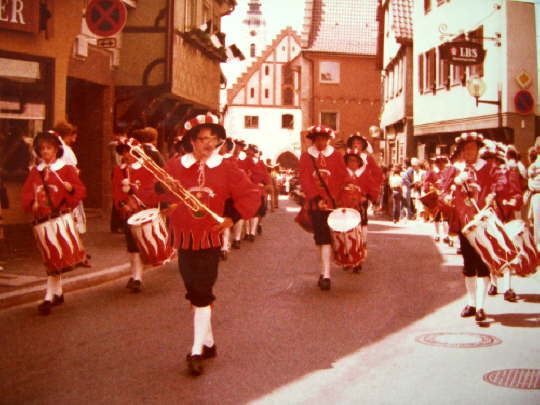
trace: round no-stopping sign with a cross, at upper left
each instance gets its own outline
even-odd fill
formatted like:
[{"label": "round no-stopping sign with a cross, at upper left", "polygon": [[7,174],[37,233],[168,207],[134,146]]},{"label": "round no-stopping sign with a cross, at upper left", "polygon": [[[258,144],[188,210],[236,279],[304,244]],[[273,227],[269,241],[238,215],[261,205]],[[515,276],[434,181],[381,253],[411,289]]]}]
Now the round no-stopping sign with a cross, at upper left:
[{"label": "round no-stopping sign with a cross, at upper left", "polygon": [[126,6],[120,0],[92,0],[86,7],[86,25],[100,37],[118,33],[124,28],[126,18]]}]

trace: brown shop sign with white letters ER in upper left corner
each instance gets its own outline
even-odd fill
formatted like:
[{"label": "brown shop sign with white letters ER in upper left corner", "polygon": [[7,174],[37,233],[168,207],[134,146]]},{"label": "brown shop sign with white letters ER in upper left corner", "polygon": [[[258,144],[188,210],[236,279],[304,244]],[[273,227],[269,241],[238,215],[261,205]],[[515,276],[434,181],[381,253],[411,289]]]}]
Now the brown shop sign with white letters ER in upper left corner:
[{"label": "brown shop sign with white letters ER in upper left corner", "polygon": [[37,33],[39,0],[0,0],[0,28]]}]

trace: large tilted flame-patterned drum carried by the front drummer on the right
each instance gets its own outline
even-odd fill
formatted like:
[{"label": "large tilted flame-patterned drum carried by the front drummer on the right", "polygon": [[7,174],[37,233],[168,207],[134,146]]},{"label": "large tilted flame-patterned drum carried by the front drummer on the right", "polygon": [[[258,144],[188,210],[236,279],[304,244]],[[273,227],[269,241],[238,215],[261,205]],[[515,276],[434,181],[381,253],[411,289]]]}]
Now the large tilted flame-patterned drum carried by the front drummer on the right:
[{"label": "large tilted flame-patterned drum carried by the front drummer on the right", "polygon": [[484,208],[461,230],[496,277],[518,256],[518,249],[508,236],[492,208]]}]

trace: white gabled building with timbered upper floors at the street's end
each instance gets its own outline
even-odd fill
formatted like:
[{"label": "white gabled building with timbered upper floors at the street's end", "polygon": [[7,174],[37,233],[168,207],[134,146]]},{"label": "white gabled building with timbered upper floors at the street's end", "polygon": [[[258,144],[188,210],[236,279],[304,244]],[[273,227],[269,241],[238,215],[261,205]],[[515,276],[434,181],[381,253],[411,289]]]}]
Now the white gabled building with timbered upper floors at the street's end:
[{"label": "white gabled building with timbered upper floors at the street's end", "polygon": [[256,144],[265,160],[300,154],[300,80],[289,64],[300,47],[292,28],[282,30],[227,91],[227,134]]}]

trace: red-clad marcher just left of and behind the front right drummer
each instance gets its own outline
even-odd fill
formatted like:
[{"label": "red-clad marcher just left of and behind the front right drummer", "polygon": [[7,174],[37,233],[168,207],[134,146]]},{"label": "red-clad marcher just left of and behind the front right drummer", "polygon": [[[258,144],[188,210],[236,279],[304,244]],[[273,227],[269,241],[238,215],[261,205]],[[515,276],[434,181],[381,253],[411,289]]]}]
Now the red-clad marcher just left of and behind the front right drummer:
[{"label": "red-clad marcher just left of and behind the front right drummer", "polygon": [[[436,196],[436,199],[434,200],[435,204],[438,200],[439,194],[441,193],[443,179],[442,175],[446,169],[447,163],[448,158],[446,156],[435,156],[433,158],[433,167],[426,173],[426,177],[424,178],[424,184],[422,185],[424,196],[428,195],[429,193],[434,193]],[[435,242],[442,240],[444,243],[448,243],[450,246],[452,246],[452,242],[448,236],[448,223],[445,221],[441,209],[437,206],[437,204],[434,207],[427,209],[430,210],[433,225],[435,226]]]}]

